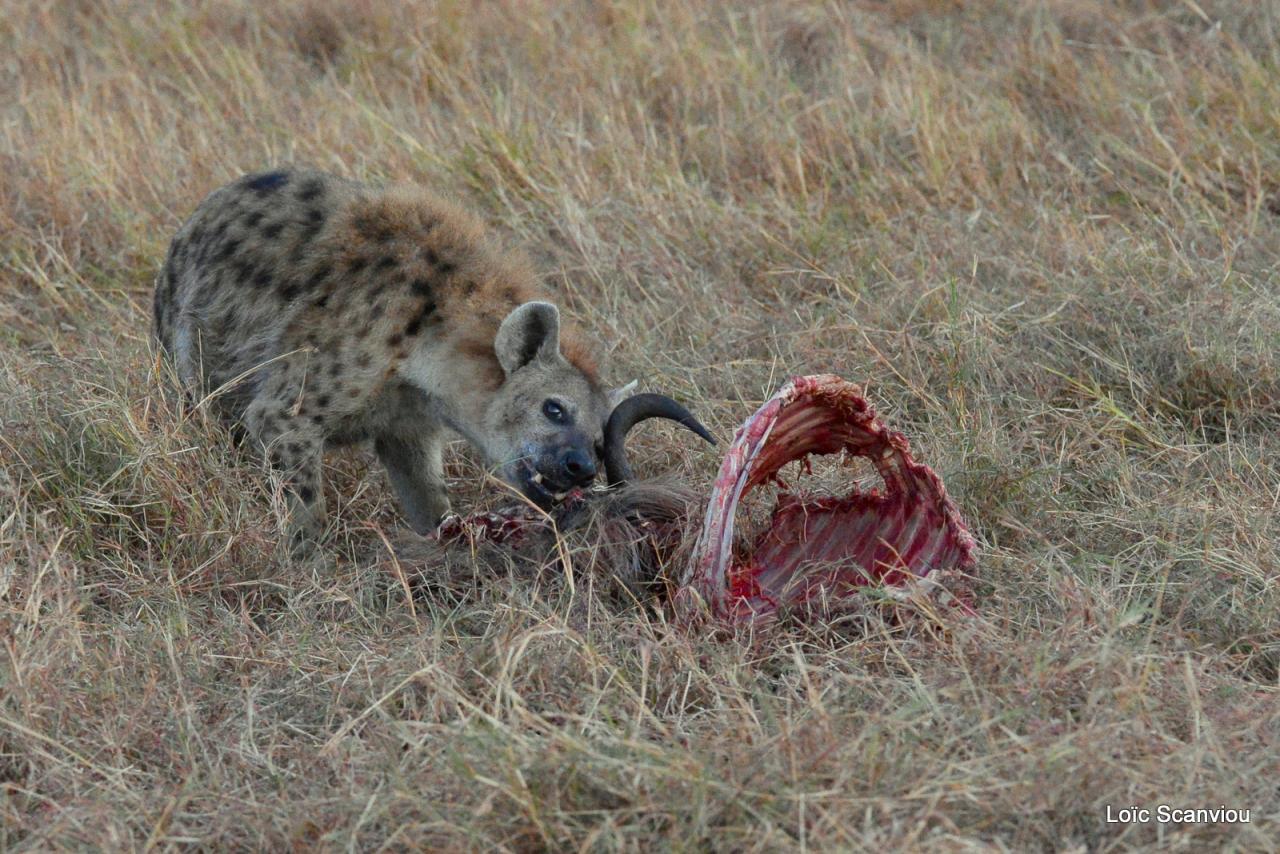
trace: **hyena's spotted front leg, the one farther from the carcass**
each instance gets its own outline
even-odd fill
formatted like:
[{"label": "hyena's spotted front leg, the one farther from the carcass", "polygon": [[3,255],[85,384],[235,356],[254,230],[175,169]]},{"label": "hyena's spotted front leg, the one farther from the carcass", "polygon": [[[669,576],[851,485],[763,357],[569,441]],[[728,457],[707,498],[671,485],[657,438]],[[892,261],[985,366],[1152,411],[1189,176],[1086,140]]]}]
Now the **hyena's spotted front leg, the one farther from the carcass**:
[{"label": "hyena's spotted front leg, the one farther from the carcass", "polygon": [[262,443],[271,467],[284,478],[288,508],[289,549],[305,554],[324,530],[325,502],[321,489],[324,435],[306,417],[279,401],[255,399],[244,425]]}]

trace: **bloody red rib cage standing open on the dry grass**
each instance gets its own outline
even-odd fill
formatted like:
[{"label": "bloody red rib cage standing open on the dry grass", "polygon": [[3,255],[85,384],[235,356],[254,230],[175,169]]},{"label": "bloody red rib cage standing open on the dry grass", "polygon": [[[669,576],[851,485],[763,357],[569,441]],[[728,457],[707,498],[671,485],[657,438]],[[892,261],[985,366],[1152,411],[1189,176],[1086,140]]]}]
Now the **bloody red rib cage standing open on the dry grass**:
[{"label": "bloody red rib cage standing open on the dry grass", "polygon": [[[788,462],[846,452],[867,457],[884,489],[845,497],[782,493],[751,548],[735,557],[739,504]],[[712,488],[680,595],[696,592],[728,620],[769,615],[868,584],[897,585],[933,570],[970,568],[973,536],[942,480],[915,462],[906,437],[886,428],[858,385],[799,376],[737,431]]]}]

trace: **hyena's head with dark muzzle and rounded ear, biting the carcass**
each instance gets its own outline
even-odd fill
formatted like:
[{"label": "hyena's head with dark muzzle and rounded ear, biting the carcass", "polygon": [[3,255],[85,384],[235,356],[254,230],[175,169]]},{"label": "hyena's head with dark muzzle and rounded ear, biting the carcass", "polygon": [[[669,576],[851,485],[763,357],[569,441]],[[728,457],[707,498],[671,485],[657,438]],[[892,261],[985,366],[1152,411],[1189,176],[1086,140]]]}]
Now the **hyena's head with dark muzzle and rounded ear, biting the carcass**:
[{"label": "hyena's head with dark muzzle and rounded ear, biting the carcass", "polygon": [[490,461],[543,508],[595,479],[617,398],[564,359],[559,330],[550,302],[526,302],[507,315],[494,338],[506,378],[484,416]]}]

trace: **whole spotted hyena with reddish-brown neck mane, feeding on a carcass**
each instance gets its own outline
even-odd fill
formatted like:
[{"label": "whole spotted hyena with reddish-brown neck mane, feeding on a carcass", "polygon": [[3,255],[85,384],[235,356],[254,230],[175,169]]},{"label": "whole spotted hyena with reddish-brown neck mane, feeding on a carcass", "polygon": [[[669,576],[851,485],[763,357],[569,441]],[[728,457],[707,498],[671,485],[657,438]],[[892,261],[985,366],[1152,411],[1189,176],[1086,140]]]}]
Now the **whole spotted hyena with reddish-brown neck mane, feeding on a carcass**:
[{"label": "whole spotted hyena with reddish-brown neck mane, feeding on a carcass", "polygon": [[328,447],[371,440],[425,533],[449,510],[445,429],[548,507],[594,479],[616,398],[475,218],[314,170],[248,175],[200,204],[156,280],[155,332],[188,392],[282,472],[296,548],[324,526]]}]

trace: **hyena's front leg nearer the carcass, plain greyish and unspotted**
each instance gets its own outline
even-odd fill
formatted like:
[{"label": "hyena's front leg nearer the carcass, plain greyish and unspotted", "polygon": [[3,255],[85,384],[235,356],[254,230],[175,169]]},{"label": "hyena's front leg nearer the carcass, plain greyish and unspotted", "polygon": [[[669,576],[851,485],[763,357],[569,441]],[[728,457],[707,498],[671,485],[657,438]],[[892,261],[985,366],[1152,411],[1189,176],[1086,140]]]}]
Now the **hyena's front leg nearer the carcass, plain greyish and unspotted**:
[{"label": "hyena's front leg nearer the carcass, plain greyish and unspotted", "polygon": [[374,448],[410,526],[419,534],[434,531],[449,512],[444,487],[444,431],[426,421],[408,434],[388,431],[379,435]]}]

